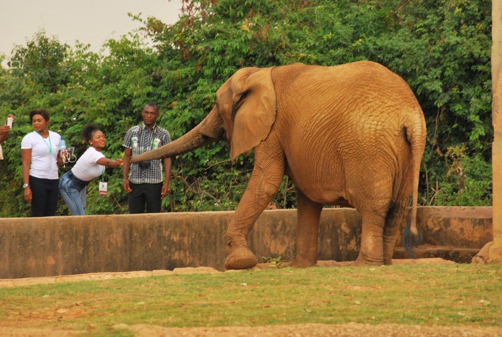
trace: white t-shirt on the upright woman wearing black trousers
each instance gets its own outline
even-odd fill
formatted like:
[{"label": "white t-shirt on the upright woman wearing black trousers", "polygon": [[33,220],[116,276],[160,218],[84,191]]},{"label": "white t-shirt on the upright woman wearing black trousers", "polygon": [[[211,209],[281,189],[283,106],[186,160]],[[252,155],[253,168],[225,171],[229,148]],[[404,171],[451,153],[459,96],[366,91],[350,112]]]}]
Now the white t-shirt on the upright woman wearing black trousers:
[{"label": "white t-shirt on the upright woman wearing black trousers", "polygon": [[30,132],[23,137],[21,149],[31,149],[32,158],[30,175],[42,179],[58,179],[58,151],[61,136],[49,131],[49,137],[43,138],[38,132]]}]

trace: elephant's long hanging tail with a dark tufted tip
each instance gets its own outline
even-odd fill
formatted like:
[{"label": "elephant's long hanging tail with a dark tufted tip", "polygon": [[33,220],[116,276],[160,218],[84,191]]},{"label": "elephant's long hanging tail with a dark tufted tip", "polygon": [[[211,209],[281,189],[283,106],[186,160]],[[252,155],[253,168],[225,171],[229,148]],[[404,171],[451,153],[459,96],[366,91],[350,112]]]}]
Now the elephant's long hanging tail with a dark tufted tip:
[{"label": "elephant's long hanging tail with a dark tufted tip", "polygon": [[402,244],[407,253],[415,258],[413,247],[422,242],[422,234],[417,229],[417,206],[418,206],[418,180],[420,178],[420,163],[425,149],[426,127],[422,109],[418,107],[410,115],[410,119],[405,123],[406,136],[411,145],[412,172],[413,172],[413,201],[410,219],[402,236]]}]

